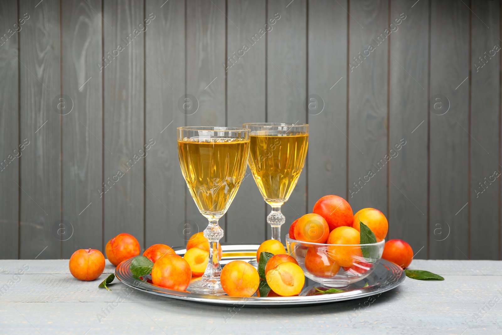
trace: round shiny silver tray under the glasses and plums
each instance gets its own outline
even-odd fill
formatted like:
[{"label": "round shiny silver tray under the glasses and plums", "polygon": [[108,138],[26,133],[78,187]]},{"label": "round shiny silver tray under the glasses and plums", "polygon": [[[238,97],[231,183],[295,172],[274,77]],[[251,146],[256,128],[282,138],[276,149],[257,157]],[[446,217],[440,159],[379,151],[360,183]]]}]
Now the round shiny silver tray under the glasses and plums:
[{"label": "round shiny silver tray under the glasses and plums", "polygon": [[[242,260],[248,262],[256,260],[256,252],[259,245],[227,245],[221,246],[223,256],[221,265],[234,260]],[[175,248],[178,255],[183,256],[186,249]],[[379,265],[374,271],[363,280],[350,284],[341,289],[346,292],[331,293],[331,294],[316,294],[318,293],[314,286],[320,289],[327,289],[322,284],[316,283],[308,278],[305,278],[305,286],[298,296],[293,297],[257,297],[249,298],[230,297],[227,295],[208,295],[200,293],[179,292],[169,290],[167,288],[155,286],[147,280],[140,281],[133,277],[129,270],[133,259],[129,259],[120,263],[115,269],[115,276],[122,283],[140,291],[145,291],[150,294],[156,294],[167,298],[189,300],[202,303],[218,304],[218,305],[244,305],[244,306],[288,306],[288,305],[312,305],[328,302],[337,302],[362,298],[374,294],[380,294],[392,290],[400,285],[406,278],[404,271],[394,263],[386,260],[380,260]],[[148,277],[148,276],[147,276]],[[200,278],[200,277],[199,277]],[[149,278],[147,278],[149,279]],[[363,287],[366,282],[367,287]]]}]

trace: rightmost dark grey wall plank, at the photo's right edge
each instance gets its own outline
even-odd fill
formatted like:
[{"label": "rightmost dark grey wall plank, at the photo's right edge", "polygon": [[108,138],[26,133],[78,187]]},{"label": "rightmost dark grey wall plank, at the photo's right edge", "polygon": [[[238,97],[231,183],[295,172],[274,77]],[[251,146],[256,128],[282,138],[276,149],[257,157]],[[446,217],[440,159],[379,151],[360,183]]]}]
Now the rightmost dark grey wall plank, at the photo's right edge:
[{"label": "rightmost dark grey wall plank, at the photo's right edge", "polygon": [[471,9],[469,258],[498,259],[500,3],[474,1]]}]

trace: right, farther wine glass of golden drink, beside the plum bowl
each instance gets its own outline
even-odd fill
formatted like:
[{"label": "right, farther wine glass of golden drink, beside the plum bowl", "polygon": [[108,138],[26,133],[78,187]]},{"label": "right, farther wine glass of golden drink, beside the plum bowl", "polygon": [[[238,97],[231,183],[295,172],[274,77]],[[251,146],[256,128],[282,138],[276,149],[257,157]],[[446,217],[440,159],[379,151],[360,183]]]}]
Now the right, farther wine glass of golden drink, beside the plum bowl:
[{"label": "right, farther wine glass of golden drink, beside the plum bowl", "polygon": [[286,217],[281,206],[296,186],[307,156],[309,125],[288,123],[246,123],[250,133],[249,168],[258,189],[272,211],[267,222],[272,239],[281,241]]}]

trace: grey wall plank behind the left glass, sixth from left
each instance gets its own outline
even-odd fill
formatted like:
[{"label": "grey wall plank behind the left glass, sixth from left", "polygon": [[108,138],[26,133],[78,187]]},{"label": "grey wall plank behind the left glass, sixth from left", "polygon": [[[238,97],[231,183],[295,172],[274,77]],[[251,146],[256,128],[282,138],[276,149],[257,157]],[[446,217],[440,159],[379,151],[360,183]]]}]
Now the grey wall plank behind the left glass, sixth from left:
[{"label": "grey wall plank behind the left glass, sixth from left", "polygon": [[[225,126],[225,68],[221,65],[225,62],[225,2],[187,0],[186,11],[186,94],[198,101],[198,109],[187,112],[186,125]],[[182,177],[181,171],[177,175]],[[187,222],[195,222],[202,232],[207,219],[186,185],[185,190]],[[223,219],[219,224],[224,229]]]}]

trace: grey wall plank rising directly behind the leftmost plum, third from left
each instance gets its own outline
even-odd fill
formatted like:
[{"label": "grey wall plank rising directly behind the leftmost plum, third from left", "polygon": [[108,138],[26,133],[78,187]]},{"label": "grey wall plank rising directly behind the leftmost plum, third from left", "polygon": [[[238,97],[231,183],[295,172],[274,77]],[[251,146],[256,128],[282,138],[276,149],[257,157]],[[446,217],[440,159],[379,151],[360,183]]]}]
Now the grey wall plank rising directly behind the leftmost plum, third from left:
[{"label": "grey wall plank rising directly behind the leftmost plum, third from left", "polygon": [[[61,3],[64,258],[77,249],[102,250],[103,129],[100,0]],[[88,81],[87,81],[88,80]],[[69,99],[67,98],[69,97]],[[69,113],[69,114],[67,114]],[[94,137],[96,136],[96,137]]]}]

